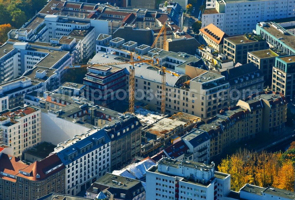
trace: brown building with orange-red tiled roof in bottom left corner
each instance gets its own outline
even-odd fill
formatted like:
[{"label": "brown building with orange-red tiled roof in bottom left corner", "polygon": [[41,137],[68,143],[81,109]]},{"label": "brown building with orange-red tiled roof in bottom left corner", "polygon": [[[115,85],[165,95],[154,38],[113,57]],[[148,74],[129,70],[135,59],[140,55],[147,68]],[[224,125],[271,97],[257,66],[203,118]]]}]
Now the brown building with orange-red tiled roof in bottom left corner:
[{"label": "brown building with orange-red tiled roof in bottom left corner", "polygon": [[2,154],[0,162],[1,199],[31,200],[50,192],[65,193],[65,166],[56,154],[30,165]]}]

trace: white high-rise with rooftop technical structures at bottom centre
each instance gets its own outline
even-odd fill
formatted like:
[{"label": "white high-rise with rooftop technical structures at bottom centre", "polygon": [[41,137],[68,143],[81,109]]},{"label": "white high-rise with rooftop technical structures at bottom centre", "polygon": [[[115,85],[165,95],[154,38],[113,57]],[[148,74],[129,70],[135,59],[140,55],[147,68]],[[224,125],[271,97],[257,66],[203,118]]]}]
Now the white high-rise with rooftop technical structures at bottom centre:
[{"label": "white high-rise with rooftop technical structures at bottom centre", "polygon": [[146,172],[146,199],[217,199],[230,192],[230,175],[195,161],[162,158]]}]

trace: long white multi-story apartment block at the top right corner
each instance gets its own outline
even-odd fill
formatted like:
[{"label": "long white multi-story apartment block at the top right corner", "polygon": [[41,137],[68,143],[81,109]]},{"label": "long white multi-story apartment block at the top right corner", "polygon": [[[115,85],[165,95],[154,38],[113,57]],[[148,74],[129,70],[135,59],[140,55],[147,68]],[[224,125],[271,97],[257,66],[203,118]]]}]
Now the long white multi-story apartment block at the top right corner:
[{"label": "long white multi-story apartment block at the top right corner", "polygon": [[252,32],[257,22],[295,16],[292,0],[221,0],[204,9],[202,27],[214,24],[228,35]]}]

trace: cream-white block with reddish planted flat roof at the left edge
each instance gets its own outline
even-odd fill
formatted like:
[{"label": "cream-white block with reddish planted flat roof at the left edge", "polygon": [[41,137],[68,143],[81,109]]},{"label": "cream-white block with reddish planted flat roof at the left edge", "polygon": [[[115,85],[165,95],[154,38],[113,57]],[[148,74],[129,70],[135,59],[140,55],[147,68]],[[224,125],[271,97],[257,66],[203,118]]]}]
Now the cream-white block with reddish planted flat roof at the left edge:
[{"label": "cream-white block with reddish planted flat roof at the left edge", "polygon": [[27,106],[0,112],[3,144],[13,148],[13,156],[23,158],[22,152],[41,142],[41,110]]}]

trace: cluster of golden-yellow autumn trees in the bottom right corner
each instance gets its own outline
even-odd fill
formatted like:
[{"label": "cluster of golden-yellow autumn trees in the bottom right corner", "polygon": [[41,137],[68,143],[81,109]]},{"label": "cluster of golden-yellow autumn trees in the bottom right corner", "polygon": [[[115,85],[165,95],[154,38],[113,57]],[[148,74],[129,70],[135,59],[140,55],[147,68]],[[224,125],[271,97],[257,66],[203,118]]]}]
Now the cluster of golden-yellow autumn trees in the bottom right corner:
[{"label": "cluster of golden-yellow autumn trees in the bottom right corner", "polygon": [[222,159],[218,171],[231,175],[231,188],[234,191],[239,191],[246,183],[293,191],[294,153],[295,148],[285,153],[240,149],[235,154]]}]

